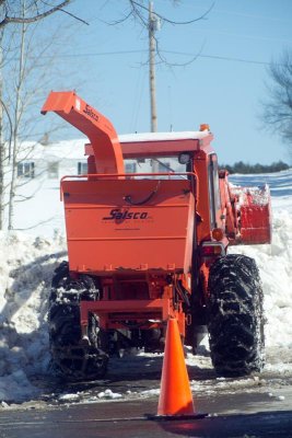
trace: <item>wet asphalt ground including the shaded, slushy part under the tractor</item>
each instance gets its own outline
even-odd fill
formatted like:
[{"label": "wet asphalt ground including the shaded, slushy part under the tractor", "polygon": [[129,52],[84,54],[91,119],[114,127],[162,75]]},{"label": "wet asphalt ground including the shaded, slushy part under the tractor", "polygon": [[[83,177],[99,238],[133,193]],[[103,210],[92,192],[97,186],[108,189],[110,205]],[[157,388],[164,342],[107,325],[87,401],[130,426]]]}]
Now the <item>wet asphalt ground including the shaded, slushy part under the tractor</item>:
[{"label": "wet asphalt ground including the shaded, slushy part under the tractor", "polygon": [[[289,351],[280,354],[291,359]],[[160,385],[162,358],[129,357],[114,361],[104,381],[36,380],[38,400],[0,408],[0,438],[292,438],[290,371],[276,367],[247,379],[222,380],[208,368],[208,357],[200,360],[189,367],[189,377],[196,412],[208,414],[205,418],[153,418],[157,393],[151,391]],[[108,388],[120,400],[98,399]],[[75,397],[63,396],[70,394]]]}]

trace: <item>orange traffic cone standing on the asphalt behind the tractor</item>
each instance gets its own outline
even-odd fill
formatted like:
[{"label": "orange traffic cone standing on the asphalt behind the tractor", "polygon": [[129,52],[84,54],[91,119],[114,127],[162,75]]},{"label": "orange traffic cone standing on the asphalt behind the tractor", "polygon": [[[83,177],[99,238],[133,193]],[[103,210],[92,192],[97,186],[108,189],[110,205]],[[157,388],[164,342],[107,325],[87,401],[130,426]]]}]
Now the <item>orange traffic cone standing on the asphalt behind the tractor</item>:
[{"label": "orange traffic cone standing on the asphalt behind the tractor", "polygon": [[184,349],[177,320],[167,323],[157,415],[194,415]]}]

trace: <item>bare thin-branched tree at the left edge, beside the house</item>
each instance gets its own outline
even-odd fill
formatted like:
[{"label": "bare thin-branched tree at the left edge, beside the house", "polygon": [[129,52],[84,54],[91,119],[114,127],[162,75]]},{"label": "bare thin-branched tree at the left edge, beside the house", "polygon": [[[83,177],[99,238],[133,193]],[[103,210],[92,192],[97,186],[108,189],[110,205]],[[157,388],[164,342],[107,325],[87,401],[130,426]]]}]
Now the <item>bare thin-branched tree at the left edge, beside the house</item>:
[{"label": "bare thin-branched tree at the left edge, beside the house", "polygon": [[36,54],[39,41],[34,32],[40,20],[56,11],[65,12],[61,8],[69,2],[58,1],[52,7],[54,1],[0,0],[0,229],[3,229],[7,207],[8,228],[13,228],[14,203],[19,200],[16,189],[27,183],[27,178],[17,178],[17,168],[22,160],[30,158],[33,148],[23,150],[22,140],[27,132],[35,134],[32,126],[36,123],[30,120],[28,108],[36,103],[48,71],[47,66],[42,66],[42,55],[54,44],[51,35]]}]

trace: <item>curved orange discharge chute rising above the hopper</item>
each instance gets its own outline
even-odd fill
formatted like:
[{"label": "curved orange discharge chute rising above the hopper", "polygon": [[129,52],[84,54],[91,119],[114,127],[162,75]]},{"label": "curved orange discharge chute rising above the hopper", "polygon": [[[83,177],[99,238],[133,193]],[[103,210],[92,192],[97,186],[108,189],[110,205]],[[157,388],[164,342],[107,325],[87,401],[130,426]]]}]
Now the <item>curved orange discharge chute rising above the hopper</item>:
[{"label": "curved orange discharge chute rising above the hopper", "polygon": [[42,114],[48,111],[54,111],[87,136],[95,158],[96,173],[125,172],[117,132],[105,116],[73,91],[51,91],[42,108]]}]

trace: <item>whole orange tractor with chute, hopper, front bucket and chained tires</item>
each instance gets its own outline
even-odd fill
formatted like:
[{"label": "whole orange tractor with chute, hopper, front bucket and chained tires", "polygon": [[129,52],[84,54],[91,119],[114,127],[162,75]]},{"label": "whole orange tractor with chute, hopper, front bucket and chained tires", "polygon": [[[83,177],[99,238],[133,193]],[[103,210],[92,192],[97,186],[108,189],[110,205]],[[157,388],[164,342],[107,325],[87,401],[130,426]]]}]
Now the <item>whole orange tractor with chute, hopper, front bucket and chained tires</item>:
[{"label": "whole orange tractor with chute, hopper, front bucket and chained tires", "polygon": [[258,269],[226,252],[270,242],[268,187],[230,185],[208,125],[118,138],[74,92],[51,92],[42,113],[50,111],[90,141],[87,173],[61,180],[69,261],[56,269],[49,299],[56,368],[68,379],[101,378],[125,348],[163,350],[176,318],[194,353],[208,327],[219,374],[260,370]]}]

